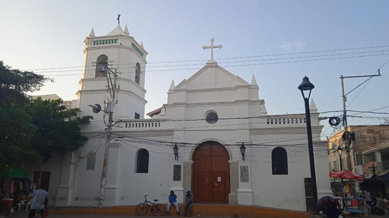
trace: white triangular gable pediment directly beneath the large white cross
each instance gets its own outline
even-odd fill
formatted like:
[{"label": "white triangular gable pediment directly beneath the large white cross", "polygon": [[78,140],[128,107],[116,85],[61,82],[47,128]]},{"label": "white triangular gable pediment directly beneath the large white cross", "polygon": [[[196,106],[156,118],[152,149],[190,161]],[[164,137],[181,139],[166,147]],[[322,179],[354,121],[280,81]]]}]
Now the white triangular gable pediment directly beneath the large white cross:
[{"label": "white triangular gable pediment directly beneath the large white cross", "polygon": [[202,69],[197,71],[187,80],[182,80],[174,89],[198,90],[235,87],[240,85],[250,85],[250,83],[239,76],[230,73],[216,63],[207,63]]}]

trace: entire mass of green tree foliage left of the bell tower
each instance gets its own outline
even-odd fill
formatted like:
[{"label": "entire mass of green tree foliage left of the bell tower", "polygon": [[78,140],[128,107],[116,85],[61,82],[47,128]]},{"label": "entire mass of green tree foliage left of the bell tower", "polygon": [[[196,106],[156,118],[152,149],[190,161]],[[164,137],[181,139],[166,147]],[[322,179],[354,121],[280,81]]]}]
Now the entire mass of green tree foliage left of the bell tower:
[{"label": "entire mass of green tree foliage left of the bell tower", "polygon": [[40,164],[51,152],[72,151],[87,140],[80,125],[91,116],[77,117],[79,109],[67,110],[61,99],[32,100],[27,94],[46,81],[53,80],[0,61],[0,169]]}]

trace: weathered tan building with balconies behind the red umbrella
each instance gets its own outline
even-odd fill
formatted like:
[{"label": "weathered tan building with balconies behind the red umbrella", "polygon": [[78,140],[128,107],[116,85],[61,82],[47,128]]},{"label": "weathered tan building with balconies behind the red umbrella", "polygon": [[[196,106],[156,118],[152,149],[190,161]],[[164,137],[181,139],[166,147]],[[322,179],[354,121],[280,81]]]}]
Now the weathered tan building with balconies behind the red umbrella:
[{"label": "weathered tan building with balconies behind the red umbrella", "polygon": [[[328,140],[328,170],[341,170],[338,146],[341,147],[342,169],[350,170],[359,175],[372,173],[372,158],[378,164],[378,170],[389,167],[389,155],[385,145],[389,142],[389,125],[351,125],[349,132],[355,133],[349,153],[345,152],[347,141],[342,140],[344,130],[339,131]],[[387,162],[385,162],[387,161]],[[370,171],[369,171],[370,169]],[[388,168],[389,170],[389,168]]]}]

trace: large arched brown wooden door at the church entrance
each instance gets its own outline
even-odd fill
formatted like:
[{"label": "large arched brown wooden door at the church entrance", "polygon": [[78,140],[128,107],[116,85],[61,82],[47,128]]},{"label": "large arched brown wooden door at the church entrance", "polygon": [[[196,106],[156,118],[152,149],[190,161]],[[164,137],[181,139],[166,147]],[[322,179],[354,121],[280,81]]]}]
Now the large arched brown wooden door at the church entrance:
[{"label": "large arched brown wooden door at the church entrance", "polygon": [[230,156],[227,149],[214,141],[203,142],[193,152],[194,201],[228,203],[230,194]]}]

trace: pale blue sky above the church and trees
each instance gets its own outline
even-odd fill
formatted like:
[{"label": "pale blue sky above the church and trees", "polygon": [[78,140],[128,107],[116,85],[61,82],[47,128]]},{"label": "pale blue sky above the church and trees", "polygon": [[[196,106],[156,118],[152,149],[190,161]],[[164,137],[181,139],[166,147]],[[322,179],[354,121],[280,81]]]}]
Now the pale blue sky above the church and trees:
[{"label": "pale blue sky above the church and trees", "polygon": [[[148,62],[209,59],[204,51],[210,38],[222,44],[215,58],[242,57],[291,52],[309,52],[342,48],[389,45],[389,1],[2,1],[0,2],[0,60],[14,68],[38,69],[50,67],[82,66],[84,39],[91,28],[96,35],[106,35],[117,25],[127,24],[130,35],[144,43],[149,52]],[[325,54],[389,50],[389,47],[350,50]],[[377,52],[373,54],[387,54]],[[323,53],[289,55],[282,57],[323,55]],[[356,54],[364,55],[364,54]],[[337,57],[344,57],[341,55]],[[355,56],[355,55],[348,55]],[[331,57],[331,56],[330,56]],[[324,57],[324,58],[330,58]],[[336,57],[336,56],[335,56]],[[255,64],[261,62],[221,64]],[[319,57],[322,58],[322,57]],[[317,59],[317,58],[306,58]],[[306,60],[305,59],[305,60]],[[259,98],[265,99],[269,114],[301,113],[303,100],[297,86],[307,75],[314,83],[312,97],[319,111],[342,109],[339,76],[373,74],[389,60],[389,55],[357,57],[326,61],[226,67],[250,82],[255,74],[259,85]],[[280,62],[293,60],[279,60]],[[266,63],[266,61],[262,61]],[[191,62],[193,63],[204,63]],[[153,66],[148,64],[147,66]],[[154,64],[155,66],[155,64]],[[195,68],[184,66],[178,68]],[[155,70],[156,67],[149,68]],[[169,67],[158,69],[173,69]],[[38,72],[38,71],[37,71]],[[75,71],[81,73],[81,71]],[[54,72],[51,74],[71,74]],[[172,79],[177,85],[196,70],[149,72],[146,69],[147,90],[145,111],[149,112],[166,103],[167,90]],[[350,110],[368,111],[389,106],[389,64],[364,88],[349,107]],[[34,94],[56,93],[64,100],[76,99],[81,75],[52,76],[54,83]],[[346,91],[364,79],[345,80]],[[348,96],[348,103],[360,88]],[[379,112],[388,112],[383,109]],[[339,113],[336,113],[338,115]],[[322,114],[333,115],[333,114]],[[368,114],[369,115],[369,114]],[[370,114],[371,115],[371,114]],[[374,115],[371,115],[374,116]],[[327,121],[322,121],[326,124]],[[349,124],[377,124],[373,119],[349,119]],[[329,128],[324,134],[331,133]]]}]

